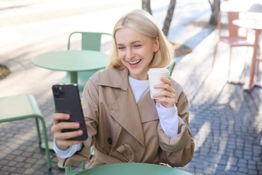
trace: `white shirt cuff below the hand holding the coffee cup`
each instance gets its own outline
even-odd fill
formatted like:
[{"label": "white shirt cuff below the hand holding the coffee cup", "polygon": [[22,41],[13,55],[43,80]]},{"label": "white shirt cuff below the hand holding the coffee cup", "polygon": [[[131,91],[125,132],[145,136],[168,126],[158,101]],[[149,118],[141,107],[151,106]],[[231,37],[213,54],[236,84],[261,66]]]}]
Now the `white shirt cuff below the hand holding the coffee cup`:
[{"label": "white shirt cuff below the hand holding the coffee cup", "polygon": [[161,127],[169,138],[178,134],[178,112],[177,106],[166,108],[159,102],[156,103]]}]

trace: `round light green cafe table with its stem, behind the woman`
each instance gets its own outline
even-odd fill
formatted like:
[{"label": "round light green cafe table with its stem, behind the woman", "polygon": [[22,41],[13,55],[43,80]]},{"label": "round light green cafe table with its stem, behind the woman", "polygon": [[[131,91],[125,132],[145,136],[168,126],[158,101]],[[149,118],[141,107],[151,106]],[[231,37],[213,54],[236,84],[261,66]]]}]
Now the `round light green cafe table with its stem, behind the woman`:
[{"label": "round light green cafe table with its stem, behind the woman", "polygon": [[62,50],[37,55],[32,62],[42,68],[68,71],[70,81],[77,83],[78,71],[104,68],[107,57],[107,54],[94,50]]}]

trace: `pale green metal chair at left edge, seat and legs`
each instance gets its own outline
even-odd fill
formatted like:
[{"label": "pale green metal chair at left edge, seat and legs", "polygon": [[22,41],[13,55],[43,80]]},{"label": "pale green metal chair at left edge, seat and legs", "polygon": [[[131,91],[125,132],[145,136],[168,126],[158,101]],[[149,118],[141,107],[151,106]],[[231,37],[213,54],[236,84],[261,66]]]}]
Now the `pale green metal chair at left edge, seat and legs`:
[{"label": "pale green metal chair at left edge, seat and legs", "polygon": [[35,118],[39,145],[41,145],[42,139],[39,130],[38,119],[42,123],[47,167],[50,170],[51,160],[48,149],[45,122],[34,96],[32,94],[18,94],[0,97],[0,122],[20,120],[26,118]]}]

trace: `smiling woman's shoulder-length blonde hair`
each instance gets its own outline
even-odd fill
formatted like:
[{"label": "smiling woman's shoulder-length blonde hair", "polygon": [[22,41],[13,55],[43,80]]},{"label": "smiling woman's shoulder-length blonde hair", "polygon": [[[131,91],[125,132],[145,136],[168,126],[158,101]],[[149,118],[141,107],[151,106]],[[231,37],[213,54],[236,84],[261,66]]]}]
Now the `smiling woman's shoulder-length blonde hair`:
[{"label": "smiling woman's shoulder-length blonde hair", "polygon": [[159,37],[160,47],[154,54],[154,58],[149,65],[150,67],[165,67],[168,66],[174,56],[174,50],[171,43],[167,40],[165,34],[155,22],[153,16],[143,9],[134,9],[129,13],[123,15],[115,24],[113,29],[113,48],[111,50],[110,59],[107,67],[115,67],[122,69],[125,66],[122,64],[116,45],[115,33],[118,29],[123,27],[132,28],[141,32],[152,39]]}]

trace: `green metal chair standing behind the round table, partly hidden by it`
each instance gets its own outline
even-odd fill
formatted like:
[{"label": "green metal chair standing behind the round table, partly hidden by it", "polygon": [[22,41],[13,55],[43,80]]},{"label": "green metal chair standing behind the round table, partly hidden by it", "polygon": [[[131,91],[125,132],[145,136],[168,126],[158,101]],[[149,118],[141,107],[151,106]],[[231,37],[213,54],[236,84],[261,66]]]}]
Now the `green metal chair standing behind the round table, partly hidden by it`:
[{"label": "green metal chair standing behind the round table, partly hidden by it", "polygon": [[[70,47],[72,44],[71,37],[77,34],[81,35],[81,49],[82,50],[101,51],[101,42],[102,42],[103,37],[112,38],[112,35],[109,33],[75,31],[75,32],[72,32],[68,37],[68,45],[67,45],[68,50],[70,50]],[[79,91],[83,91],[86,81],[96,71],[97,70],[77,72],[77,84],[78,84]],[[69,82],[69,72],[66,73],[66,76],[62,80],[60,80],[60,82]]]}]

